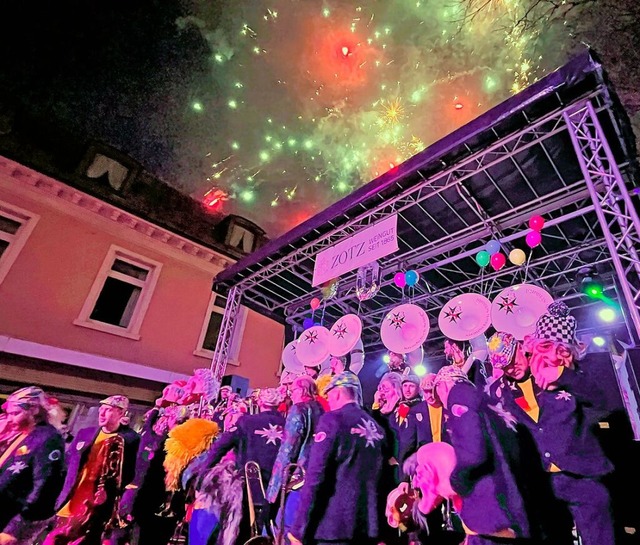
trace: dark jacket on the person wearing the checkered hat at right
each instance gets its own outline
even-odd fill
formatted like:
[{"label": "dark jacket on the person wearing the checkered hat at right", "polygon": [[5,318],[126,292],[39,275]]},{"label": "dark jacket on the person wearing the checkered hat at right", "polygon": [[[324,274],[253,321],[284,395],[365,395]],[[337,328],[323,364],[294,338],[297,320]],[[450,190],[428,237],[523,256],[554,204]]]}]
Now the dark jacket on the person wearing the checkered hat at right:
[{"label": "dark jacket on the person wearing the checkered hat at right", "polygon": [[503,376],[489,388],[495,400],[531,432],[546,469],[553,463],[561,471],[583,477],[600,477],[610,473],[613,465],[605,456],[593,433],[593,421],[587,410],[597,409],[605,397],[600,388],[579,370],[565,368],[556,390],[541,390],[533,384],[540,408],[535,422],[522,408],[522,391],[517,383]]}]

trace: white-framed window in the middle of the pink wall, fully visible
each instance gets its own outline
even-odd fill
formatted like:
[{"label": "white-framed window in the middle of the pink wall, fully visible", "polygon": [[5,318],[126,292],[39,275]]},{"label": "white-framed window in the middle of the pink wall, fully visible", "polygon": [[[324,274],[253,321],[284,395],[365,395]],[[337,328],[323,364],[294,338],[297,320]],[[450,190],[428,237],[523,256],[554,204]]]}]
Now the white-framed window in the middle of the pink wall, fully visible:
[{"label": "white-framed window in the middle of the pink wall, fully visible", "polygon": [[161,264],[112,246],[76,325],[139,339]]}]

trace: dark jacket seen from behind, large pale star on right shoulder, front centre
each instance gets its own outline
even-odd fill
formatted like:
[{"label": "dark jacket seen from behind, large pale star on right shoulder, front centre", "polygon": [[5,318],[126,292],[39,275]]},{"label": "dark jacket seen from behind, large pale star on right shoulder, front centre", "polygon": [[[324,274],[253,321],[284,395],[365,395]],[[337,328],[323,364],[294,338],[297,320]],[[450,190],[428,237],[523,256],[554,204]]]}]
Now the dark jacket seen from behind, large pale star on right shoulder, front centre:
[{"label": "dark jacket seen from behind, large pale star on right shoulder, front centre", "polygon": [[383,443],[383,429],[356,403],[320,417],[291,529],[296,538],[362,543],[377,537]]}]

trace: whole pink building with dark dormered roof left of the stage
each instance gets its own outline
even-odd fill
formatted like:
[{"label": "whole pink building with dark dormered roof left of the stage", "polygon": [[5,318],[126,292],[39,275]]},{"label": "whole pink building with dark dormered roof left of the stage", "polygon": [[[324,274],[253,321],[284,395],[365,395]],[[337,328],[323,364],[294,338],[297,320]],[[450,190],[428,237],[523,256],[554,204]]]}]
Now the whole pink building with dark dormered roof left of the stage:
[{"label": "whole pink building with dark dormered roof left of the stage", "polygon": [[[144,407],[209,367],[225,306],[212,280],[264,233],[214,221],[105,146],[67,157],[65,178],[2,144],[0,393],[38,384],[73,407],[115,393]],[[275,385],[283,326],[241,312],[227,373]]]}]

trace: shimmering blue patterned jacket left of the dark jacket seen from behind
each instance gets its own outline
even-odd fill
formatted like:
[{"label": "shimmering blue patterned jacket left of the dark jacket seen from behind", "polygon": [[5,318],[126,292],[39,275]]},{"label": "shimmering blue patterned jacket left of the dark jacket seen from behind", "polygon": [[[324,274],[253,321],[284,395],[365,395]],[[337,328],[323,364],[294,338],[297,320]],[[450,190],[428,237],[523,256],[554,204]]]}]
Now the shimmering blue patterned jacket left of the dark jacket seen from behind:
[{"label": "shimmering blue patterned jacket left of the dark jacket seen from behind", "polygon": [[288,464],[298,463],[306,470],[309,451],[313,444],[313,432],[320,415],[324,413],[322,405],[315,399],[296,403],[289,410],[284,425],[282,444],[273,465],[271,480],[267,488],[267,500],[273,503],[278,498],[284,471]]}]

